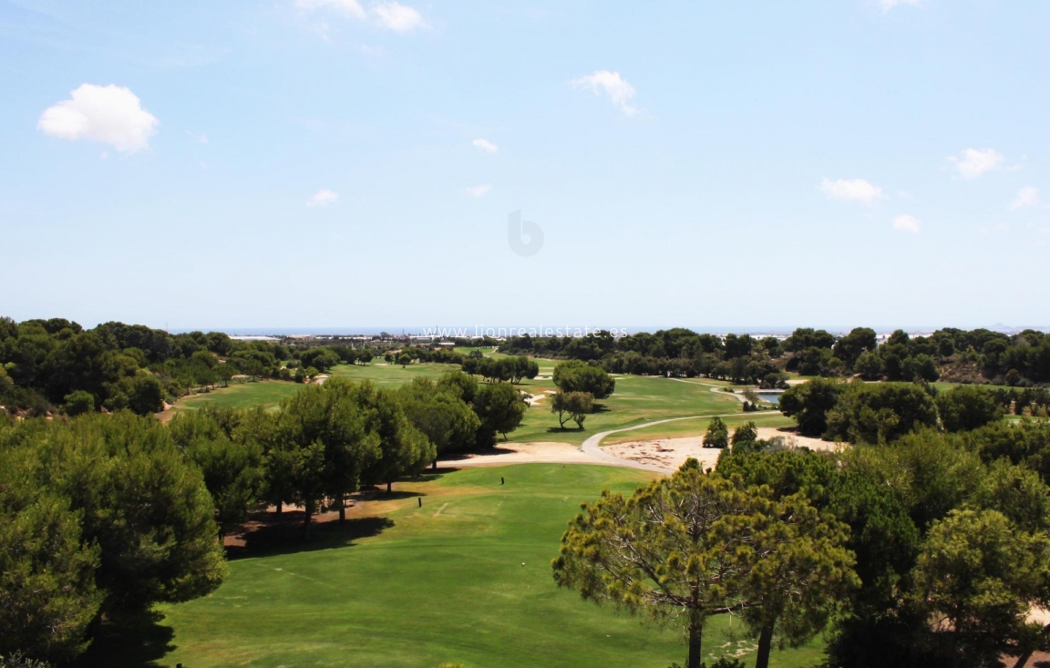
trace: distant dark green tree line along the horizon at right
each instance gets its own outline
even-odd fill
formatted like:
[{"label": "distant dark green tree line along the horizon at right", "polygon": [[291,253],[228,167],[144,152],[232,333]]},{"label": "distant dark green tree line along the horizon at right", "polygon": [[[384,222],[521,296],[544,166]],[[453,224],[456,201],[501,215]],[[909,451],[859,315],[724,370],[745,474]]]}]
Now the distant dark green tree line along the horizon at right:
[{"label": "distant dark green tree line along the horizon at right", "polygon": [[674,328],[618,338],[608,332],[582,337],[514,336],[500,350],[600,362],[611,373],[710,376],[768,388],[783,388],[783,372],[1018,388],[1050,383],[1050,338],[1034,330],[1008,335],[946,328],[917,337],[898,330],[879,345],[875,330],[865,327],[842,336],[799,328],[782,341]]}]

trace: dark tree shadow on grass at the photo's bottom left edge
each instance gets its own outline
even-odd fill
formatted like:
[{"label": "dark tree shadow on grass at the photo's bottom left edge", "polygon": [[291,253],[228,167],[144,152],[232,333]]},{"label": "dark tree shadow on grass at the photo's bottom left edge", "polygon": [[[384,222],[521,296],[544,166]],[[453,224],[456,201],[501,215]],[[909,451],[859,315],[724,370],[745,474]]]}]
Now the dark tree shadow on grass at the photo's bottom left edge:
[{"label": "dark tree shadow on grass at the photo's bottom left edge", "polygon": [[126,617],[101,624],[87,651],[67,668],[154,668],[168,652],[174,631],[162,626],[156,611]]}]

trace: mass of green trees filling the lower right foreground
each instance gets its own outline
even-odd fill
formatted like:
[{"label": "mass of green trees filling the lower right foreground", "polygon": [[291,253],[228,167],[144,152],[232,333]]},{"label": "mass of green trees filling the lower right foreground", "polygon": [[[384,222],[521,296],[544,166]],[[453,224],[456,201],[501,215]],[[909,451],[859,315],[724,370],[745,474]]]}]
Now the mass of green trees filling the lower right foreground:
[{"label": "mass of green trees filling the lower right foreground", "polygon": [[834,454],[748,436],[714,472],[690,460],[585,505],[555,581],[679,628],[688,666],[715,614],[758,639],[756,667],[828,623],[839,668],[1023,666],[1050,645],[1027,618],[1050,604],[1050,425],[921,429]]}]

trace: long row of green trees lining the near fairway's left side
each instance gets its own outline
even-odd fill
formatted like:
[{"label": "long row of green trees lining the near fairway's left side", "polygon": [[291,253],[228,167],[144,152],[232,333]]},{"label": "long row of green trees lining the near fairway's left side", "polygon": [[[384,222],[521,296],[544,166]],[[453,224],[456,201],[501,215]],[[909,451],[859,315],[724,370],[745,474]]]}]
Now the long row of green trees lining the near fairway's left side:
[{"label": "long row of green trees lining the near fairway's left side", "polygon": [[100,625],[214,590],[222,538],[288,504],[303,531],[350,495],[491,447],[525,413],[462,372],[402,388],[332,377],[274,413],[205,408],[168,425],[119,411],[0,419],[0,656],[66,661]]}]

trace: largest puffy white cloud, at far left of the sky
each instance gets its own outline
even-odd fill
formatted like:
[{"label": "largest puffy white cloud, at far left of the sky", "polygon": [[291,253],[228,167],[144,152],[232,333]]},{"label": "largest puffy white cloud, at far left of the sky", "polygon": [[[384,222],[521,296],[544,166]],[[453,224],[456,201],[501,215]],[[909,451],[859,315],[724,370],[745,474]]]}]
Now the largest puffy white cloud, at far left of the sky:
[{"label": "largest puffy white cloud, at far left of the sky", "polygon": [[68,100],[44,109],[37,127],[51,137],[101,142],[133,153],[148,148],[160,124],[129,89],[82,84]]}]

